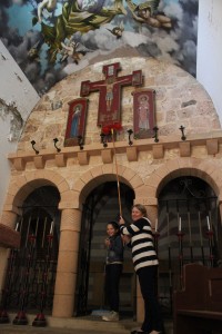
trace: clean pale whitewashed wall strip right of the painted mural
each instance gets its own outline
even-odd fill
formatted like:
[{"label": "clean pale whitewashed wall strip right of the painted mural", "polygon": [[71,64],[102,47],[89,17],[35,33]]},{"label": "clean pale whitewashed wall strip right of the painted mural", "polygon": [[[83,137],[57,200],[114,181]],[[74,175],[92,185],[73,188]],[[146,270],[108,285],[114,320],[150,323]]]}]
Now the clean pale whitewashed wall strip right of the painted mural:
[{"label": "clean pale whitewashed wall strip right of the painted mural", "polygon": [[213,100],[222,124],[222,1],[199,1],[196,79]]}]

